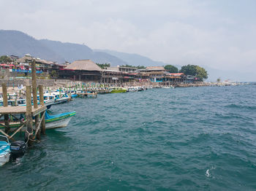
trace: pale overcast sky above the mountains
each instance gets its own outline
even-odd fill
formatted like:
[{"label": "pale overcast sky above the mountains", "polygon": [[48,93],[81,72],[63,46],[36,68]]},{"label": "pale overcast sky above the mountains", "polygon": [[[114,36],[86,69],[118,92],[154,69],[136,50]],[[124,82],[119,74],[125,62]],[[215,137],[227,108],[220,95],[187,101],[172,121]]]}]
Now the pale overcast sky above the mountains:
[{"label": "pale overcast sky above the mountains", "polygon": [[1,29],[255,75],[255,0],[0,0]]}]

